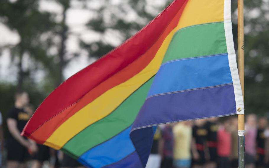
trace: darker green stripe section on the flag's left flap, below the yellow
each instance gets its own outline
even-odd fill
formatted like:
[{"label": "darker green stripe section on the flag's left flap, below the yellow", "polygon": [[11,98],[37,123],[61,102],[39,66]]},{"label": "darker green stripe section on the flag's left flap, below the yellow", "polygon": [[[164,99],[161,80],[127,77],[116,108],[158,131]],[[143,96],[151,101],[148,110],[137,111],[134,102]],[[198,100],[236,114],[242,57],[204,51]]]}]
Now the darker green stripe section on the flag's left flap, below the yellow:
[{"label": "darker green stripe section on the flag's left flap, below the yellow", "polygon": [[74,136],[63,146],[63,150],[79,157],[90,148],[109,140],[132,125],[147,97],[153,78],[132,93],[110,115],[88,126]]}]

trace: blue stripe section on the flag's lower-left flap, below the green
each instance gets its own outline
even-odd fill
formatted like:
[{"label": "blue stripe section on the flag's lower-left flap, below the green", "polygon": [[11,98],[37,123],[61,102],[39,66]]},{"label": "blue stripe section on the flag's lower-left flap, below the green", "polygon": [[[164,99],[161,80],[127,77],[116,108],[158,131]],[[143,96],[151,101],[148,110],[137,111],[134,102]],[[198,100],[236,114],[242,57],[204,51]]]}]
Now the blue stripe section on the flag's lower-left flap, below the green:
[{"label": "blue stripe section on the flag's lower-left flap, below the green", "polygon": [[135,151],[129,138],[131,127],[110,140],[90,149],[78,159],[86,166],[97,168],[113,164]]}]

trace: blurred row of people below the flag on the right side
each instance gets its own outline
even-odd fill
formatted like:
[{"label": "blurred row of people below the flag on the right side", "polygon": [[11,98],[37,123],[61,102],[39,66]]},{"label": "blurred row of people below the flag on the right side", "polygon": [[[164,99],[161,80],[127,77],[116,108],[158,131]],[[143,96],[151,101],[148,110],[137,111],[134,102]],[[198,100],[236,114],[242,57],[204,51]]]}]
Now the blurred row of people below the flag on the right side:
[{"label": "blurred row of people below the flag on the right side", "polygon": [[[238,168],[236,116],[161,125],[146,168]],[[246,116],[246,168],[269,167],[269,125]]]}]

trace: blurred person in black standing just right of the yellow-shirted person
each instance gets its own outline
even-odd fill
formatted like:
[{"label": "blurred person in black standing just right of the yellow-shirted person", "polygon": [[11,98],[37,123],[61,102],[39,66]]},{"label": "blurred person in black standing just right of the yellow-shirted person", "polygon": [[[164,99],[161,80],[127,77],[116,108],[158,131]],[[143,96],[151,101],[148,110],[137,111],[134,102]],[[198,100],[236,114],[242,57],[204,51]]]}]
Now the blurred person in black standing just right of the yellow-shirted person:
[{"label": "blurred person in black standing just right of the yellow-shirted person", "polygon": [[206,136],[208,131],[205,128],[205,119],[194,121],[192,127],[192,157],[193,168],[203,168],[206,161]]}]

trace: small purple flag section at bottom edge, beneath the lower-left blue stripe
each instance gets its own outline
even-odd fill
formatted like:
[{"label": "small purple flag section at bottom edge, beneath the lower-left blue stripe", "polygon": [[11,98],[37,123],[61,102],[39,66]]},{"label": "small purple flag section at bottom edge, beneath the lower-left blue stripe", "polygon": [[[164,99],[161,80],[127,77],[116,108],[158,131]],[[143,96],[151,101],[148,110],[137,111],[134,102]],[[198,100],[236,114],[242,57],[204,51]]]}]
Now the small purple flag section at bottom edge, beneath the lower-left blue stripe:
[{"label": "small purple flag section at bottom edge, beneath the lower-left blue stripe", "polygon": [[128,168],[142,168],[141,161],[137,152],[134,152],[122,159],[119,162],[105,166],[105,168],[119,168],[119,167],[128,167]]}]

